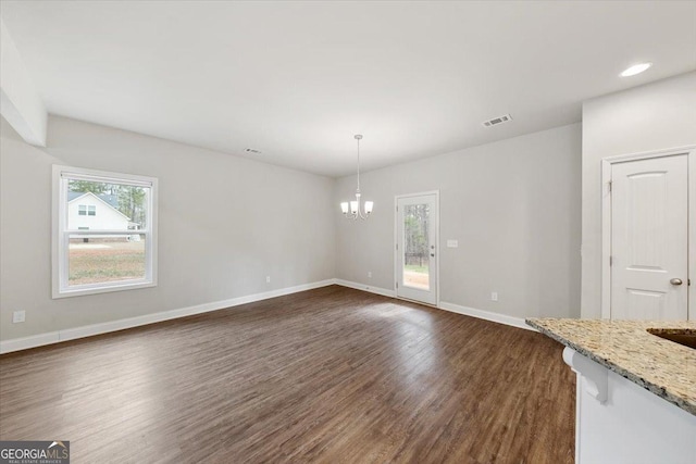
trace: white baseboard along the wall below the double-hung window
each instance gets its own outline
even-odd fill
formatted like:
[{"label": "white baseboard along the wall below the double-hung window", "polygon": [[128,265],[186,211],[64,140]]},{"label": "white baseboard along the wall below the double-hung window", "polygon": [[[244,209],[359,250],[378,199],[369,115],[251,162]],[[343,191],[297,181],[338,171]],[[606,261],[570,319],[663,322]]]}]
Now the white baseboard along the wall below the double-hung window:
[{"label": "white baseboard along the wall below the double-hung window", "polygon": [[254,301],[266,300],[269,298],[283,297],[285,294],[297,293],[299,291],[326,287],[336,284],[335,279],[326,279],[311,284],[298,285],[295,287],[281,288],[265,291],[263,293],[248,294],[245,297],[232,298],[229,300],[213,301],[211,303],[197,304],[195,306],[181,308],[177,310],[162,311],[159,313],[145,314],[125,319],[110,321],[105,323],[92,324],[82,327],[67,328],[63,330],[50,331],[46,334],[33,335],[29,337],[14,338],[0,341],[0,354],[12,351],[27,350],[29,348],[42,347],[45,344],[58,343],[61,341],[74,340],[77,338],[91,337],[95,335],[108,334],[110,331],[123,330],[147,324],[159,323],[194,314],[207,313],[210,311],[223,310],[225,308],[238,306],[239,304],[252,303]]}]

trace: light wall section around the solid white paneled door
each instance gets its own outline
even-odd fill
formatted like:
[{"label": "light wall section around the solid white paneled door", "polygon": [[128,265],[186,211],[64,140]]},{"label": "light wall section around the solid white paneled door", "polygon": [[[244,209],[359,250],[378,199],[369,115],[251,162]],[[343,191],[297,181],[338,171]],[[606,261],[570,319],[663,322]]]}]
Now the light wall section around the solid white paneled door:
[{"label": "light wall section around the solid white paneled door", "polygon": [[601,160],[696,143],[696,73],[583,104],[582,317],[601,317]]}]

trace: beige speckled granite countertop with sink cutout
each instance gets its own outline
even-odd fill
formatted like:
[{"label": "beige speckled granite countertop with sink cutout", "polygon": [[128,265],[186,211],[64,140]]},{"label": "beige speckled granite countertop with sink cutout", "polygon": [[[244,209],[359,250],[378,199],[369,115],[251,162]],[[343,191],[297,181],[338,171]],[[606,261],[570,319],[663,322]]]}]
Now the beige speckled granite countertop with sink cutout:
[{"label": "beige speckled granite countertop with sink cutout", "polygon": [[696,334],[696,322],[527,318],[526,323],[696,415],[696,350],[647,331]]}]

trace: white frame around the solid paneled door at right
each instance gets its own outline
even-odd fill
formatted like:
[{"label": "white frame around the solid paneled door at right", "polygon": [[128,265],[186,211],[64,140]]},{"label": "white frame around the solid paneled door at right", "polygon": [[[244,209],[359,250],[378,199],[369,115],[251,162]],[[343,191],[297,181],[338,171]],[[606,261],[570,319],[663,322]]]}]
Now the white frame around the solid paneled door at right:
[{"label": "white frame around the solid paneled door at right", "polygon": [[[611,317],[611,166],[626,161],[686,154],[688,163],[688,279],[696,277],[696,146],[620,154],[601,160],[601,318]],[[688,283],[687,283],[688,284]],[[696,285],[688,286],[688,319],[696,321]]]}]

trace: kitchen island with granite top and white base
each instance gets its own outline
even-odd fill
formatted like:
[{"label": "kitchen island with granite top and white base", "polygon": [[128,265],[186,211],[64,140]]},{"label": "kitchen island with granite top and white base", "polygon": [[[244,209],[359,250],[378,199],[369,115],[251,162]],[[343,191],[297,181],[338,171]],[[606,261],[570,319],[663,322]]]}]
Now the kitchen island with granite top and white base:
[{"label": "kitchen island with granite top and white base", "polygon": [[696,323],[526,323],[577,374],[576,463],[696,463],[696,349],[662,338],[688,340]]}]

